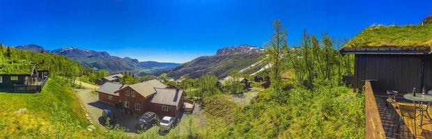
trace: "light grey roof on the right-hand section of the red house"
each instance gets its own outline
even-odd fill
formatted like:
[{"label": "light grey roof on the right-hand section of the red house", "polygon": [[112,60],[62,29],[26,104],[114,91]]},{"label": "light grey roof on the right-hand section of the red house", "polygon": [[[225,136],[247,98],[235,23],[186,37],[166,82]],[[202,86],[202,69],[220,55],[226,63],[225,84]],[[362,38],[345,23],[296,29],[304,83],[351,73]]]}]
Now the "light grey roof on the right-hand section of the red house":
[{"label": "light grey roof on the right-hand section of the red house", "polygon": [[[183,90],[172,88],[155,88],[156,94],[151,98],[153,104],[163,104],[169,106],[178,106]],[[177,93],[177,95],[176,95]]]}]

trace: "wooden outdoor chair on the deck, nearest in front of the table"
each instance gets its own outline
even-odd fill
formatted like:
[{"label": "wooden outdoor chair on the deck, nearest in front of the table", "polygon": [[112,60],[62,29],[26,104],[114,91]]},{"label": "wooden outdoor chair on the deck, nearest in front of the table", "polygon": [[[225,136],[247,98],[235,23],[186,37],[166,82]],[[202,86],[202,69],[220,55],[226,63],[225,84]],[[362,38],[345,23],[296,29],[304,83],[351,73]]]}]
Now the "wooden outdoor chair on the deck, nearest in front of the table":
[{"label": "wooden outdoor chair on the deck, nearest in front of the table", "polygon": [[406,117],[409,120],[414,120],[414,136],[417,137],[417,122],[415,120],[417,117],[417,107],[399,104],[399,111],[401,112],[401,118],[399,119],[398,128],[396,129],[396,131],[399,131],[399,127],[401,126],[401,121],[403,120],[403,117]]}]

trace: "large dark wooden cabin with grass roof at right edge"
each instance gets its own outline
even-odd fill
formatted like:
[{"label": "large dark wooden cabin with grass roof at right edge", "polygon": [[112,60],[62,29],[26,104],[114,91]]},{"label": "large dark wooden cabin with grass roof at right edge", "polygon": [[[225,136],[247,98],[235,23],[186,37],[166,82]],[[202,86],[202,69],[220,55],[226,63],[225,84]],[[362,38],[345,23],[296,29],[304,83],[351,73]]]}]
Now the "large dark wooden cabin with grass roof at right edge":
[{"label": "large dark wooden cabin with grass roof at right edge", "polygon": [[350,40],[341,54],[354,54],[353,87],[373,90],[432,89],[432,26],[373,26]]}]

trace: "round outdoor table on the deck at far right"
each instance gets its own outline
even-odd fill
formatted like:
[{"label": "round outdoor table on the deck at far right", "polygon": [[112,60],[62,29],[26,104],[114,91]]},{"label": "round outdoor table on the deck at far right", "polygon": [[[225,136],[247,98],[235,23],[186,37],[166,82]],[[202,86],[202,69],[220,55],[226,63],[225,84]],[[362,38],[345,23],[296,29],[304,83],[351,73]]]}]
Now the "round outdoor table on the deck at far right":
[{"label": "round outdoor table on the deck at far right", "polygon": [[[415,106],[415,103],[417,102],[419,104],[420,108],[422,108],[422,105],[424,102],[427,103],[426,114],[428,115],[428,118],[431,119],[431,117],[429,117],[428,108],[429,108],[429,104],[432,102],[432,95],[415,93],[415,97],[414,97],[414,96],[412,96],[412,93],[408,93],[408,94],[403,95],[403,98],[414,102],[414,106]],[[422,120],[423,120],[423,111],[420,111],[419,119],[420,119],[419,126],[421,127],[422,126]]]}]

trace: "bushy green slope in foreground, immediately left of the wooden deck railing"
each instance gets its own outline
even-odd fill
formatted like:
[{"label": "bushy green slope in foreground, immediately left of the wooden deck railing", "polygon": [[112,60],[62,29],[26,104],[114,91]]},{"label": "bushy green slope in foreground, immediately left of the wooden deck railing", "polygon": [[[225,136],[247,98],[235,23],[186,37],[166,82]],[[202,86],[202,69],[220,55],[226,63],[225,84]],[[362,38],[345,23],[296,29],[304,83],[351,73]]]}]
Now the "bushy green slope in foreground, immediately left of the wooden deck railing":
[{"label": "bushy green slope in foreground, immediately left of the wooden deck railing", "polygon": [[213,138],[364,138],[364,95],[344,86],[301,86],[286,92],[283,104],[272,90],[259,92],[239,108],[222,96],[207,98],[208,124],[202,136]]}]

